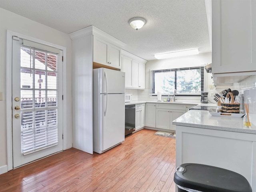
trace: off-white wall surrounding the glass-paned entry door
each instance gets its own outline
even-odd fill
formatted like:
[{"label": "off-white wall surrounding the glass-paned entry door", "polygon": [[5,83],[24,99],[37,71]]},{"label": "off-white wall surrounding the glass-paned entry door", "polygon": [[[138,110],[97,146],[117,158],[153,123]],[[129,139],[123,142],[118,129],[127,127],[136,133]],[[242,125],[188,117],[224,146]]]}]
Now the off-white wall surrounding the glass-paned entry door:
[{"label": "off-white wall surrounding the glass-paned entry door", "polygon": [[[26,36],[44,40],[67,48],[67,93],[64,95],[68,102],[66,119],[67,126],[67,148],[72,147],[72,42],[68,34],[57,31],[48,26],[34,22],[7,10],[0,8],[0,92],[3,92],[3,100],[0,101],[0,174],[7,165],[6,144],[6,31],[17,32]],[[7,89],[10,89],[8,87]],[[10,106],[8,106],[10,107]],[[64,122],[65,123],[65,122]]]}]

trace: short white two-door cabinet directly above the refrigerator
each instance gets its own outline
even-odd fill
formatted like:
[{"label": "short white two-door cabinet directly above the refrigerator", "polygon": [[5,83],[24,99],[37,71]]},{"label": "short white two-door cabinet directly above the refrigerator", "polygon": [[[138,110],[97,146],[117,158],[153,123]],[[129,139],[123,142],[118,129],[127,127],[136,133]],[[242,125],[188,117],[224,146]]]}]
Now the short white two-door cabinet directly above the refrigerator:
[{"label": "short white two-door cabinet directly above the refrigerator", "polygon": [[121,69],[121,49],[94,36],[93,61]]}]

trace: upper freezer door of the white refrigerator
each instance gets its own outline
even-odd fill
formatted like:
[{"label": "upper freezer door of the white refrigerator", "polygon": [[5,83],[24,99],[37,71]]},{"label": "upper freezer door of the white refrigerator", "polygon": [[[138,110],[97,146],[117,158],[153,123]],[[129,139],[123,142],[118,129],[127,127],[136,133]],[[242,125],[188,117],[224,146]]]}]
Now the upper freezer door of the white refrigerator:
[{"label": "upper freezer door of the white refrigerator", "polygon": [[125,73],[112,69],[100,69],[102,69],[100,93],[124,93]]}]

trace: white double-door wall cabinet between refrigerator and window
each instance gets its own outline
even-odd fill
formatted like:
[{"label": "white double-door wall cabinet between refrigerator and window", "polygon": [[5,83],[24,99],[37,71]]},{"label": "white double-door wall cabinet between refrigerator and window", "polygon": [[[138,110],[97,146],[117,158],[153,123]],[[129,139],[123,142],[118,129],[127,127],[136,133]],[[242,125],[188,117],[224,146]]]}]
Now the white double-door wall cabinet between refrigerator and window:
[{"label": "white double-door wall cabinet between refrigerator and window", "polygon": [[146,60],[122,50],[122,71],[125,72],[125,88],[145,89]]}]

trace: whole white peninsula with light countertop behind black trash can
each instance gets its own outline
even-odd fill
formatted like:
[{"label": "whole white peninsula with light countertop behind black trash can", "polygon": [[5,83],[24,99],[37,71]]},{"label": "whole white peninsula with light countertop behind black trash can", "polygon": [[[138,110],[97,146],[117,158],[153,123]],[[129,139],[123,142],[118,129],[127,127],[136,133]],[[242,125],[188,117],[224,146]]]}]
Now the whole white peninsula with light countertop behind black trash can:
[{"label": "whole white peninsula with light countertop behind black trash can", "polygon": [[176,167],[183,163],[218,166],[242,174],[256,190],[256,127],[243,118],[190,110],[176,125]]}]

